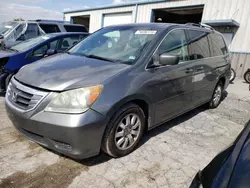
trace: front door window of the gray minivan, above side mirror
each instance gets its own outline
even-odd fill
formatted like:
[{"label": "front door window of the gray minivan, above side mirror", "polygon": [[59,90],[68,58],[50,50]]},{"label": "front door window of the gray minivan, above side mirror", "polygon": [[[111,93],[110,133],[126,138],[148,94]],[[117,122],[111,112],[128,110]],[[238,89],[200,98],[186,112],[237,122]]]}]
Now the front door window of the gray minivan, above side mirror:
[{"label": "front door window of the gray minivan, above side mirror", "polygon": [[167,34],[158,49],[159,55],[168,53],[179,56],[180,61],[188,60],[188,47],[185,31],[173,30]]}]

